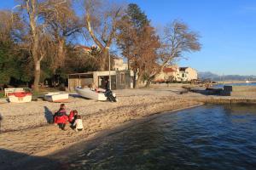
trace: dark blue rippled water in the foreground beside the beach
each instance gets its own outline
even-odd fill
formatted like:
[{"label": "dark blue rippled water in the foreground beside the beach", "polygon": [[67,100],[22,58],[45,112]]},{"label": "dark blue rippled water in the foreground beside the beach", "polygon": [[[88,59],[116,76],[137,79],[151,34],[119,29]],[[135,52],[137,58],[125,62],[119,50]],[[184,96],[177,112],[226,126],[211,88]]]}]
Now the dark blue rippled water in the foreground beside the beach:
[{"label": "dark blue rippled water in the foreground beside the beach", "polygon": [[203,105],[157,116],[80,144],[69,160],[67,169],[255,170],[256,106]]}]

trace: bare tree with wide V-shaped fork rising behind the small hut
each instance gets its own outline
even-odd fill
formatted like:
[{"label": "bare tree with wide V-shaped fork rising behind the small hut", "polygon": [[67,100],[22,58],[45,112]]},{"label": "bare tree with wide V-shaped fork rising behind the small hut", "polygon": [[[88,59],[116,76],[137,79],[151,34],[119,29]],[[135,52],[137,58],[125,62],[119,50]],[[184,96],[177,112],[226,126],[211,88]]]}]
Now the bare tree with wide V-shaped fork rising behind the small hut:
[{"label": "bare tree with wide V-shaped fork rising behind the small hut", "polygon": [[108,69],[109,48],[116,36],[122,8],[117,3],[102,0],[84,0],[86,31],[102,50],[100,71]]}]

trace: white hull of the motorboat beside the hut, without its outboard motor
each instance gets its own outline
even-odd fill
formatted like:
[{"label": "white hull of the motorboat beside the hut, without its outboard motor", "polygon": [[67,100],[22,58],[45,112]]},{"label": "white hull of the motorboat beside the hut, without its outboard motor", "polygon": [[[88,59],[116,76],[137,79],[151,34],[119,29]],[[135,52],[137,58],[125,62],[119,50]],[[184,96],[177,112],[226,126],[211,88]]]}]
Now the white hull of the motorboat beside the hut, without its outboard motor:
[{"label": "white hull of the motorboat beside the hut, without its outboard motor", "polygon": [[[84,97],[84,98],[88,98],[88,99],[96,99],[96,100],[100,100],[100,101],[105,101],[107,100],[107,97],[104,94],[105,90],[101,90],[100,91],[95,91],[95,90],[91,90],[90,88],[75,88],[76,92]],[[113,94],[115,95],[115,94]]]}]

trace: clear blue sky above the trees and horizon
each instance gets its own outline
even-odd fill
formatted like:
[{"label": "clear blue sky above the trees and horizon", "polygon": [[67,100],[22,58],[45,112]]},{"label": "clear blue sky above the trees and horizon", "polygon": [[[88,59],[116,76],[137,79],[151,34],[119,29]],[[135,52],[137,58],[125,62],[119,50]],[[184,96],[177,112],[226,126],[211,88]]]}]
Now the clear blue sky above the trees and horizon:
[{"label": "clear blue sky above the trees and horizon", "polygon": [[[256,75],[255,0],[126,0],[137,3],[153,26],[161,30],[182,20],[200,34],[200,52],[184,54],[177,61],[197,71],[219,75]],[[0,0],[0,9],[15,0]]]}]

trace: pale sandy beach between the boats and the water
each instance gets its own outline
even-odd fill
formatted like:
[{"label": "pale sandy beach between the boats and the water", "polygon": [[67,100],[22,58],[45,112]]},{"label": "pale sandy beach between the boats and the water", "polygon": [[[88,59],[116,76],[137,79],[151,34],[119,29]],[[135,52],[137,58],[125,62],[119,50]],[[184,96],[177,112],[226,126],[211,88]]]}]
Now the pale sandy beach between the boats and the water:
[{"label": "pale sandy beach between the boats and the water", "polygon": [[27,156],[48,156],[90,139],[102,130],[119,127],[124,122],[162,111],[201,105],[204,99],[213,98],[190,92],[179,94],[182,90],[181,87],[117,90],[117,103],[82,99],[72,95],[66,103],[67,113],[71,110],[79,111],[84,122],[84,131],[79,133],[69,126],[67,131],[62,131],[57,125],[50,123],[52,113],[59,108],[59,103],[34,101],[26,104],[2,104],[0,163],[11,167]]}]

